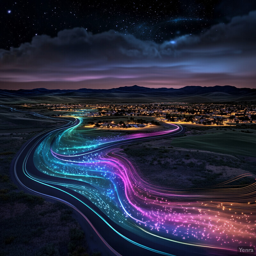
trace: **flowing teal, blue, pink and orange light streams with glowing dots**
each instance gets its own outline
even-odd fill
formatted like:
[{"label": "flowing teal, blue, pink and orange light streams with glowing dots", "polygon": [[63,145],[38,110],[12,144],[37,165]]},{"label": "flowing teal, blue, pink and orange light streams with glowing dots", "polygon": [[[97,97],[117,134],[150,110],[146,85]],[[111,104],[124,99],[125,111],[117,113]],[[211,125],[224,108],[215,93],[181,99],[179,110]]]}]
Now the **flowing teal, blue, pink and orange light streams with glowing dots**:
[{"label": "flowing teal, blue, pink and orange light streams with glowing dots", "polygon": [[90,200],[99,214],[158,244],[225,250],[254,244],[256,219],[251,213],[256,207],[250,202],[255,200],[256,183],[236,189],[168,190],[140,177],[134,164],[120,154],[122,142],[166,136],[177,132],[179,126],[99,137],[95,131],[77,129],[82,122],[77,118],[72,126],[49,132],[36,148],[34,165],[49,177],[40,180],[37,176],[40,182],[76,191]]}]

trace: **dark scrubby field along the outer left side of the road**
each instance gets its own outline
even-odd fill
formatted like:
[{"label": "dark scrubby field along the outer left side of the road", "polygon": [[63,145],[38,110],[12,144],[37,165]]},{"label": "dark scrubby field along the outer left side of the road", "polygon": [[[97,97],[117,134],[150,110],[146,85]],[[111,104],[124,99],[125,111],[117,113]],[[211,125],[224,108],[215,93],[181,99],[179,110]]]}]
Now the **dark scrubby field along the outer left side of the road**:
[{"label": "dark scrubby field along the outer left side of the road", "polygon": [[88,246],[92,242],[85,237],[91,239],[91,235],[84,234],[72,208],[27,194],[10,179],[10,164],[20,147],[63,121],[5,108],[1,108],[0,120],[0,256],[99,256],[100,252]]}]

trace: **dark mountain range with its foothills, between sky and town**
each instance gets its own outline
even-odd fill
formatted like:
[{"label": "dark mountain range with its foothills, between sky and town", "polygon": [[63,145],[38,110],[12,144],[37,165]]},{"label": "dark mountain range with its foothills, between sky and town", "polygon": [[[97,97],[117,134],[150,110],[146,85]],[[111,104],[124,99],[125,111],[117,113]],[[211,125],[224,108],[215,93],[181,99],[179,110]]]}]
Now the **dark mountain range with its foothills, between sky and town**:
[{"label": "dark mountain range with its foothills, between sky and town", "polygon": [[108,102],[224,102],[256,101],[256,89],[235,86],[148,88],[138,85],[112,89],[1,90],[0,103],[108,103]]}]

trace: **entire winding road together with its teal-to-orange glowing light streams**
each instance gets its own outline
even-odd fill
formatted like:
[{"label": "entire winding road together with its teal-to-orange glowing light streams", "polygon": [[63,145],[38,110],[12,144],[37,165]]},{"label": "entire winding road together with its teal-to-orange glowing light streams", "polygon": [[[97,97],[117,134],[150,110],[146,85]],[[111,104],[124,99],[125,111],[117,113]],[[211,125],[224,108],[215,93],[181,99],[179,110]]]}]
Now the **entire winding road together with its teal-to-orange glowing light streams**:
[{"label": "entire winding road together with its teal-to-orange glowing light streams", "polygon": [[34,137],[14,172],[25,188],[79,211],[113,254],[233,255],[237,246],[254,245],[255,183],[229,187],[240,176],[213,188],[174,191],[144,180],[120,152],[122,144],[182,133],[180,125],[98,136],[78,129],[82,122],[73,118]]}]

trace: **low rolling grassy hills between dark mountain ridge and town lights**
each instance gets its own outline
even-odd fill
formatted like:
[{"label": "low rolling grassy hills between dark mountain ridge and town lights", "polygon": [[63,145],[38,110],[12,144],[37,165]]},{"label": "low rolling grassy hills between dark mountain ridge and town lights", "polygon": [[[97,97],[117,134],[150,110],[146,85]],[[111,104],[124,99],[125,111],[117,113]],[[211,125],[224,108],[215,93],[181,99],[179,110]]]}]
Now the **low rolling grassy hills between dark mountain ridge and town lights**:
[{"label": "low rolling grassy hills between dark mountain ridge and town lights", "polygon": [[[44,84],[42,84],[44,86]],[[224,102],[224,101],[254,101],[255,96],[248,95],[227,95],[227,93],[215,92],[199,95],[159,95],[158,93],[148,94],[145,92],[127,92],[127,93],[84,93],[75,92],[70,95],[41,94],[11,96],[1,93],[0,102],[2,104],[20,104],[20,103],[141,103],[141,102]]]}]

